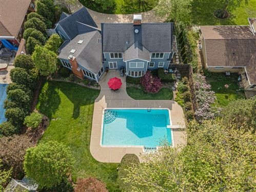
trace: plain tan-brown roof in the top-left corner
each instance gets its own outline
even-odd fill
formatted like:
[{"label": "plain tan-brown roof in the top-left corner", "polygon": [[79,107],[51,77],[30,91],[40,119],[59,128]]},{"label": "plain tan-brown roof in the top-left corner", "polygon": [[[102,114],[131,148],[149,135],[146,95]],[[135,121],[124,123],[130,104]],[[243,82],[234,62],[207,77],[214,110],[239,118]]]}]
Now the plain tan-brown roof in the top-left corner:
[{"label": "plain tan-brown roof in the top-left corner", "polygon": [[31,0],[0,1],[0,36],[17,37]]}]

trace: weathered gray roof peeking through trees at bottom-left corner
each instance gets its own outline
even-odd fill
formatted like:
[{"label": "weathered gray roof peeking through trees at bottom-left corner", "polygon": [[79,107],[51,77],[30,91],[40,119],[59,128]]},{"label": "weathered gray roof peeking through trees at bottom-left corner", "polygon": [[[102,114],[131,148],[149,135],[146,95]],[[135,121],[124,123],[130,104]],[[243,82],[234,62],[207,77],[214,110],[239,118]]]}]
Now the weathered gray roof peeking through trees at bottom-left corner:
[{"label": "weathered gray roof peeking through trees at bottom-left corner", "polygon": [[22,180],[12,179],[5,188],[4,192],[34,192],[36,191],[37,187],[38,185],[35,182],[24,177]]}]

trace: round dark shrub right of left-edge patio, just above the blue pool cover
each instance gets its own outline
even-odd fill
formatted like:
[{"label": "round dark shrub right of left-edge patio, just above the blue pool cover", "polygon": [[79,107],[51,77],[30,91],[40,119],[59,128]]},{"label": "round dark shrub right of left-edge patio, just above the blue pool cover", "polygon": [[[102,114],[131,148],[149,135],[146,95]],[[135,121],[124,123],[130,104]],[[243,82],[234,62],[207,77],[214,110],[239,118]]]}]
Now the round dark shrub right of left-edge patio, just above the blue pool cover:
[{"label": "round dark shrub right of left-edge patio, just above the blue pool cover", "polygon": [[24,84],[24,86],[28,86],[31,83],[31,78],[25,69],[22,68],[14,68],[10,72],[10,77],[12,82],[17,84]]}]

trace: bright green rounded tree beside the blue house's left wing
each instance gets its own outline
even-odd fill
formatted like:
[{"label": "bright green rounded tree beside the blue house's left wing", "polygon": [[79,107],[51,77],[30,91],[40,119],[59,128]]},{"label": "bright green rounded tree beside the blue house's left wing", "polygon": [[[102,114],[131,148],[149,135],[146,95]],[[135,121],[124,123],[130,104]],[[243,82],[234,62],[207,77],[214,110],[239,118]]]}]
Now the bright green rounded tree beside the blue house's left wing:
[{"label": "bright green rounded tree beside the blue house's left wing", "polygon": [[41,75],[48,76],[57,70],[57,55],[45,47],[36,46],[32,59]]}]

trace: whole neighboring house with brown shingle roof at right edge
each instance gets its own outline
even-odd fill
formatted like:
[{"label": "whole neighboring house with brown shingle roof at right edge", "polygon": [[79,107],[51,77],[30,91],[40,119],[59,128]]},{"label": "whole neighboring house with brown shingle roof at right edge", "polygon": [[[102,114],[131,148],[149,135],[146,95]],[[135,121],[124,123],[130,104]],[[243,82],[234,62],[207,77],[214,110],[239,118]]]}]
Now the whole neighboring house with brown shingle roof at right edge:
[{"label": "whole neighboring house with brown shingle roof at right edge", "polygon": [[249,26],[200,26],[205,68],[238,73],[245,90],[256,91],[256,19]]}]

